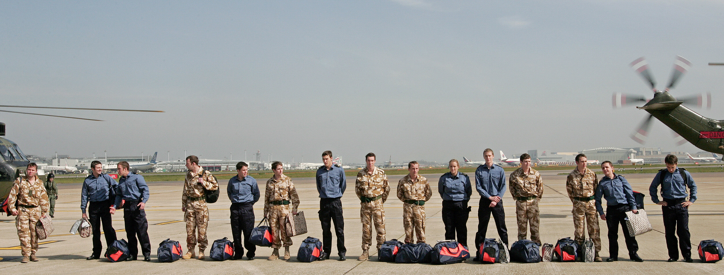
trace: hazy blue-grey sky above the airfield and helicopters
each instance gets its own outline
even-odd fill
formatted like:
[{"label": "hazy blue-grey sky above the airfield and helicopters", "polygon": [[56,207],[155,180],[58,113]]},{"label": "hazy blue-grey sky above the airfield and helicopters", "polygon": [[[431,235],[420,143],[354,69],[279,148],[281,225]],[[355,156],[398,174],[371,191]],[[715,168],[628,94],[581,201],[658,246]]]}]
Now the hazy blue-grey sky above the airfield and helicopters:
[{"label": "hazy blue-grey sky above the airfield and helicopters", "polygon": [[[646,56],[660,89],[676,55],[694,65],[674,96],[724,106],[723,1],[1,1],[3,104],[27,154],[346,163],[482,160],[531,149],[635,147],[652,97],[628,67]],[[640,103],[639,103],[640,106]],[[7,109],[7,108],[4,108]],[[675,146],[660,122],[647,147]]]}]

